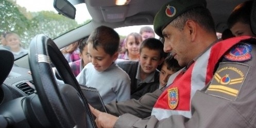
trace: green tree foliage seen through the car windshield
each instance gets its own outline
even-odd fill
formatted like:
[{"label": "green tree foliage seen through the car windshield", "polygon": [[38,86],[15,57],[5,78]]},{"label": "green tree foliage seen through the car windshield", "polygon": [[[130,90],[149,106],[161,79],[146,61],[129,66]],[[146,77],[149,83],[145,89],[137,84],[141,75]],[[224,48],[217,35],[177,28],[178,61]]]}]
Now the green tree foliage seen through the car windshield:
[{"label": "green tree foliage seen through the car windshield", "polygon": [[[75,20],[68,19],[53,11],[28,12],[15,0],[0,2],[0,32],[12,31],[20,35],[22,46],[28,48],[30,40],[39,33],[55,39],[57,36],[77,28]],[[89,21],[87,21],[89,22]]]}]

